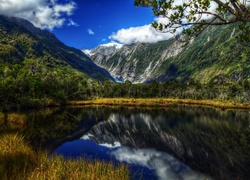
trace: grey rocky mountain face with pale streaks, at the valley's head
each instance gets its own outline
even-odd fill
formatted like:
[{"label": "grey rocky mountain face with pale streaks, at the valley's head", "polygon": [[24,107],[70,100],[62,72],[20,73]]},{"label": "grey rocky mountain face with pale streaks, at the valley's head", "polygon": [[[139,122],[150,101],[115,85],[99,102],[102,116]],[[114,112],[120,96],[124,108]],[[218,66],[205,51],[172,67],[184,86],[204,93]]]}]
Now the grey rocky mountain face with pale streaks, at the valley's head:
[{"label": "grey rocky mountain face with pale streaks, at the valley's head", "polygon": [[120,80],[142,83],[153,77],[154,71],[167,58],[182,50],[178,41],[165,41],[157,44],[138,43],[117,46],[98,46],[84,51],[99,66]]}]

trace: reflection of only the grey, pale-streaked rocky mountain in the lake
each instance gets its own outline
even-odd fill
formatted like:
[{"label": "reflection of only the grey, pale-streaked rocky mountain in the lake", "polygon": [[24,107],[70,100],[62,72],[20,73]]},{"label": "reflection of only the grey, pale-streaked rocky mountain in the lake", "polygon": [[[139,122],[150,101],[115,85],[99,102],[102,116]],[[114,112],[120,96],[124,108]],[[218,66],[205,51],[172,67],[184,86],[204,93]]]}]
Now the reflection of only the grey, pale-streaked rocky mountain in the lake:
[{"label": "reflection of only the grey, pale-streaked rocky mountain in the lake", "polygon": [[175,152],[179,157],[185,153],[183,144],[174,136],[163,132],[157,123],[147,114],[132,114],[130,117],[111,114],[108,121],[94,126],[89,138],[98,144],[114,144],[136,148],[154,147],[159,150]]}]

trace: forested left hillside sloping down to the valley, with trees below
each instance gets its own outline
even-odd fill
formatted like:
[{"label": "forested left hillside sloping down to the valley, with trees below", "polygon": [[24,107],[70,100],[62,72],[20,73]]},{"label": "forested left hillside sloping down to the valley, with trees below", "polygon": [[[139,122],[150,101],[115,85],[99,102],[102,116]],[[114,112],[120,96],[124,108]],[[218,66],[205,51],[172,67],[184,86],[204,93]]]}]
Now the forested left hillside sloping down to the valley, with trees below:
[{"label": "forested left hillside sloping down to the valley, with trees below", "polygon": [[110,74],[30,22],[0,16],[0,105],[60,104]]}]

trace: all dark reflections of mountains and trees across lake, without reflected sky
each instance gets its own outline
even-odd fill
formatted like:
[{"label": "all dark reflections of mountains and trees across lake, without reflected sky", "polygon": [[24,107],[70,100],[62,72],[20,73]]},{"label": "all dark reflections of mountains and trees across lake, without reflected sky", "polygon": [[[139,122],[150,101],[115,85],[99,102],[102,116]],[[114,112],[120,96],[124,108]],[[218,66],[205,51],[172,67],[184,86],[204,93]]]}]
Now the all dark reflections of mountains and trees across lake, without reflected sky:
[{"label": "all dark reflections of mountains and trees across lake, without reflected sky", "polygon": [[88,137],[98,144],[131,147],[117,151],[119,156],[156,149],[215,179],[250,177],[248,112],[99,106],[44,110],[29,112],[24,134],[34,147],[46,146],[50,151],[66,141]]}]

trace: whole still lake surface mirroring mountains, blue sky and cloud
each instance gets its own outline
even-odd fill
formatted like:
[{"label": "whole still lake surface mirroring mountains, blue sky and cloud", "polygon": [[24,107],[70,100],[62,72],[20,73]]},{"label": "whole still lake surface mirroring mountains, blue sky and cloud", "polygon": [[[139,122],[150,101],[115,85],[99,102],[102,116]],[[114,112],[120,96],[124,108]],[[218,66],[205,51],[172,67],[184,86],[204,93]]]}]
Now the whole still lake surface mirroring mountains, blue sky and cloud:
[{"label": "whole still lake surface mirroring mountains, blue sky and cloud", "polygon": [[126,163],[134,179],[250,178],[247,111],[84,107],[41,114],[28,123],[35,146]]}]

